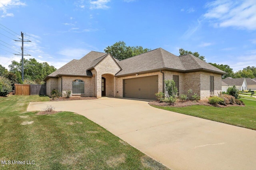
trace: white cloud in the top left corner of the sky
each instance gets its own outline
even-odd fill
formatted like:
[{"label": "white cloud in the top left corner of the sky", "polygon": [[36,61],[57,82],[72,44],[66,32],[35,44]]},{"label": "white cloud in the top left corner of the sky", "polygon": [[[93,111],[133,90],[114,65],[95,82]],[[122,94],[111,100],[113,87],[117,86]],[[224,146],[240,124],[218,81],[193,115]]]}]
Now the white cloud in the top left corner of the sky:
[{"label": "white cloud in the top left corner of the sky", "polygon": [[8,16],[14,16],[13,13],[8,13],[7,10],[10,8],[18,7],[18,6],[26,6],[24,2],[20,2],[20,0],[1,0],[0,1],[0,11],[3,11],[2,18]]}]

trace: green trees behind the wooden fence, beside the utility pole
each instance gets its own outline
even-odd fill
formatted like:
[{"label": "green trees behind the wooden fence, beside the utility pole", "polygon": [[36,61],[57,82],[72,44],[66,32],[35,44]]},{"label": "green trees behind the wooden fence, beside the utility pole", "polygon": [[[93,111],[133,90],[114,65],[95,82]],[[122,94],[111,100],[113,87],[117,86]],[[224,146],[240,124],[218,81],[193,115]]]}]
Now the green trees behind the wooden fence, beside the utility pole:
[{"label": "green trees behind the wooden fence, beside the utility pole", "polygon": [[[12,61],[12,64],[9,65],[10,72],[20,74],[21,76],[21,66],[22,60],[19,63]],[[38,63],[36,59],[24,59],[24,78],[35,81],[38,84],[41,84],[43,79],[55,70],[56,68],[54,66],[49,66],[46,62]]]}]

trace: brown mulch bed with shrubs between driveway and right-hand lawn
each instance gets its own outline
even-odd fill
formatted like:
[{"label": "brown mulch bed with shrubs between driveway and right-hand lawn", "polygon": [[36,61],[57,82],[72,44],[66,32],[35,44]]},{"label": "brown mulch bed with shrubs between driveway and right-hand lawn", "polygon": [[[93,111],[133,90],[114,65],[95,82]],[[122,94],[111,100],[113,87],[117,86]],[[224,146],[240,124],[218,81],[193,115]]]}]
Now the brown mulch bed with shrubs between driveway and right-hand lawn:
[{"label": "brown mulch bed with shrubs between driveway and right-hand lawn", "polygon": [[[158,102],[158,101],[153,101],[149,102],[148,104],[154,105],[154,106],[169,106],[169,107],[186,107],[186,106],[192,106],[192,105],[204,105],[204,106],[213,106],[208,103],[208,100],[198,100],[198,101],[186,101],[182,102],[182,100],[176,100],[176,102],[173,105],[169,105],[168,103],[164,102]],[[244,105],[238,105],[238,104],[227,104],[227,105],[214,105],[214,107],[230,107],[230,106],[244,106]]]}]

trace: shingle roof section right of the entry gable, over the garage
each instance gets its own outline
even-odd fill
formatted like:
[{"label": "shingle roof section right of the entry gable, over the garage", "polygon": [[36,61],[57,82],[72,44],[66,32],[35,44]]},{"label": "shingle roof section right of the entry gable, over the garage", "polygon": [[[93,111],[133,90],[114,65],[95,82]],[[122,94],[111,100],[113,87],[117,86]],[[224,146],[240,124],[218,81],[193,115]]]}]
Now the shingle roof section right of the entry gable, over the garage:
[{"label": "shingle roof section right of the entry gable, over the garage", "polygon": [[176,70],[179,72],[205,70],[218,74],[226,74],[226,72],[202,61],[194,55],[187,54],[178,57],[162,48],[124,59],[119,61],[118,64],[122,70],[116,76],[158,69]]}]

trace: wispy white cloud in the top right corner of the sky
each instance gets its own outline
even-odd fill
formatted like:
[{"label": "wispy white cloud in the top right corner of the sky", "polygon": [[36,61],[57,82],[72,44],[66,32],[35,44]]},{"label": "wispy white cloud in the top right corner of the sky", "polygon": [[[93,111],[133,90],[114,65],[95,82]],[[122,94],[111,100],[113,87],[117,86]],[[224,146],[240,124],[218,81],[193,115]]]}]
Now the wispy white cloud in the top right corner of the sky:
[{"label": "wispy white cloud in the top right corner of the sky", "polygon": [[213,22],[214,27],[235,27],[256,29],[256,3],[254,0],[217,0],[206,4],[208,11],[204,18]]}]

